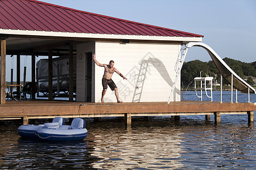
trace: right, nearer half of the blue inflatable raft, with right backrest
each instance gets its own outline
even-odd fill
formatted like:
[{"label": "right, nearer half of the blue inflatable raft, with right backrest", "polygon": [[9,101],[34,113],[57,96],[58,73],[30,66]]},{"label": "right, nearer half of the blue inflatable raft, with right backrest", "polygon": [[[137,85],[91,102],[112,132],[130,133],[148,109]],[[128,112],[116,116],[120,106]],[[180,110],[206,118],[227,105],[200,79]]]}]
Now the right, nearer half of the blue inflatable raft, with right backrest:
[{"label": "right, nearer half of the blue inflatable raft, with right backrest", "polygon": [[39,139],[44,141],[77,141],[84,139],[87,134],[82,118],[74,118],[71,126],[43,126],[37,131]]}]

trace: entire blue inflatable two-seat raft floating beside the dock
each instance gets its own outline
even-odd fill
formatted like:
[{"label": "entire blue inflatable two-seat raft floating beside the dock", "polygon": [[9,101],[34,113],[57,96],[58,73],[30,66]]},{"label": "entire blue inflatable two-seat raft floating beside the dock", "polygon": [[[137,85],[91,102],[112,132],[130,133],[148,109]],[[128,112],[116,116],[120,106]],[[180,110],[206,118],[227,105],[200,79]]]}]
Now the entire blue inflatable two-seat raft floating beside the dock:
[{"label": "entire blue inflatable two-seat raft floating beside the dock", "polygon": [[18,128],[21,137],[38,138],[43,141],[77,141],[84,139],[88,131],[82,118],[74,118],[71,126],[64,125],[63,117],[55,117],[44,125],[22,125]]}]

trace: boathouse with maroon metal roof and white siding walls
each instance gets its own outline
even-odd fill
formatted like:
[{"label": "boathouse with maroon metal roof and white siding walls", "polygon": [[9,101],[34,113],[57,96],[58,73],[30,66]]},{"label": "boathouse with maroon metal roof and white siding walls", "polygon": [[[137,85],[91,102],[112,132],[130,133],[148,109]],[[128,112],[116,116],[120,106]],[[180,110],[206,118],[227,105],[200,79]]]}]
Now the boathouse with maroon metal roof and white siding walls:
[{"label": "boathouse with maroon metal roof and white siding walls", "polygon": [[[119,97],[125,102],[167,101],[176,73],[175,63],[181,45],[200,42],[195,33],[132,22],[34,0],[0,1],[1,35],[1,103],[5,103],[5,57],[31,56],[32,82],[36,82],[36,56],[48,56],[49,99],[52,99],[52,57],[69,56],[73,70],[76,57],[76,101],[101,100],[103,67],[95,65],[92,54],[100,63],[115,62],[126,76],[113,75]],[[71,64],[70,64],[71,63]],[[17,71],[17,84],[20,73]],[[69,82],[73,81],[69,71]],[[176,86],[172,101],[180,101]],[[35,96],[33,96],[35,97]],[[73,84],[69,83],[69,100],[73,100]],[[108,90],[106,102],[116,102]]]}]

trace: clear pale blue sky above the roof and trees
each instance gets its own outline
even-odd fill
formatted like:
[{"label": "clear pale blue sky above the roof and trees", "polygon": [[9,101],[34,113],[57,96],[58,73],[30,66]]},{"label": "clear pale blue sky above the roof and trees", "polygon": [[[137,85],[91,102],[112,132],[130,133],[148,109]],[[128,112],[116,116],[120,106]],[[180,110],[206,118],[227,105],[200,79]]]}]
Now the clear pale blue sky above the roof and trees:
[{"label": "clear pale blue sky above the roof and trees", "polygon": [[[242,62],[256,61],[255,0],[42,0],[42,2],[197,33],[204,35],[202,42],[209,45],[221,58],[228,57]],[[189,48],[185,61],[195,59],[211,60],[203,48]],[[6,62],[10,60],[6,59]],[[21,67],[22,64],[24,61],[21,61]],[[30,70],[29,66],[30,59],[27,61],[27,70]],[[27,77],[29,78],[30,75]],[[9,79],[8,74],[6,78]]]}]

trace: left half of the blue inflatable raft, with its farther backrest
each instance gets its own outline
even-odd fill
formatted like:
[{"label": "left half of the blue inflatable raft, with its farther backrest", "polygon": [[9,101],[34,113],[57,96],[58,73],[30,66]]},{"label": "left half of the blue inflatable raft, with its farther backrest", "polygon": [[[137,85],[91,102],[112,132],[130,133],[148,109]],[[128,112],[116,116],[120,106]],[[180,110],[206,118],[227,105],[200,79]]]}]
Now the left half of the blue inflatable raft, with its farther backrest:
[{"label": "left half of the blue inflatable raft, with its farther backrest", "polygon": [[59,126],[64,125],[64,118],[63,117],[55,117],[52,120],[52,123],[46,123],[44,125],[21,125],[18,128],[18,134],[24,138],[38,138],[37,132],[39,129],[43,128],[44,126]]}]

